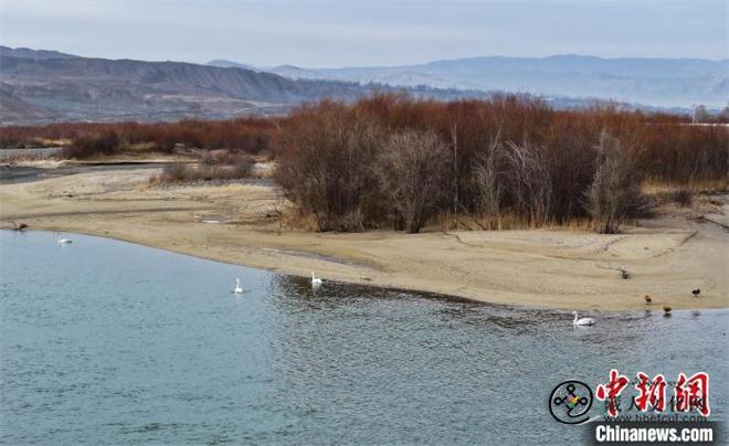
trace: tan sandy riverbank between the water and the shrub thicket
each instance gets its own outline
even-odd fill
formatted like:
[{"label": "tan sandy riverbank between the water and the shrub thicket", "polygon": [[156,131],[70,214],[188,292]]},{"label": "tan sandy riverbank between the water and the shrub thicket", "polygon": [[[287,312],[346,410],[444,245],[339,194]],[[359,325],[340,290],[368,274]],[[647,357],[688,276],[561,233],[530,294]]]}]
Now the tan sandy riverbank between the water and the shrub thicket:
[{"label": "tan sandy riverbank between the water and the shrub thicket", "polygon": [[[157,169],[86,171],[0,187],[0,222],[114,237],[325,280],[495,304],[622,310],[729,306],[727,201],[669,209],[623,234],[567,230],[410,235],[282,227],[270,181],[154,187]],[[704,215],[705,219],[694,219]],[[630,273],[622,279],[619,268]],[[700,288],[698,298],[691,290]]]}]

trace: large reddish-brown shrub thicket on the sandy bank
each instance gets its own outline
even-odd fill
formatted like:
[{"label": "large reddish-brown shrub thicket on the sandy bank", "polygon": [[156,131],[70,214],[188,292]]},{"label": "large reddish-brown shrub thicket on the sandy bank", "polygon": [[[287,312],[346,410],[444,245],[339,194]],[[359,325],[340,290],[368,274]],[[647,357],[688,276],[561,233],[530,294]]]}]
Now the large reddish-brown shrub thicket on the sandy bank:
[{"label": "large reddish-brown shrub thicket on the sandy bank", "polygon": [[727,128],[612,107],[553,110],[496,96],[442,103],[376,95],[283,119],[277,178],[320,230],[390,220],[418,232],[439,213],[538,226],[592,217],[602,232],[645,215],[641,181],[726,181]]}]

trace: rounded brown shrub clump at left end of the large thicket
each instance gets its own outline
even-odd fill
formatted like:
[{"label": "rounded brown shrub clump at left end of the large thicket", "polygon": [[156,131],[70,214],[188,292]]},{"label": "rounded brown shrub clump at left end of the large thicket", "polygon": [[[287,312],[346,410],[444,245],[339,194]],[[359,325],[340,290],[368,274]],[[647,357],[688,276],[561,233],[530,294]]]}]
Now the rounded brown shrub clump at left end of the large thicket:
[{"label": "rounded brown shrub clump at left end of the large thicket", "polygon": [[373,170],[383,146],[383,129],[361,110],[305,106],[282,125],[276,179],[321,231],[370,227],[384,204]]}]

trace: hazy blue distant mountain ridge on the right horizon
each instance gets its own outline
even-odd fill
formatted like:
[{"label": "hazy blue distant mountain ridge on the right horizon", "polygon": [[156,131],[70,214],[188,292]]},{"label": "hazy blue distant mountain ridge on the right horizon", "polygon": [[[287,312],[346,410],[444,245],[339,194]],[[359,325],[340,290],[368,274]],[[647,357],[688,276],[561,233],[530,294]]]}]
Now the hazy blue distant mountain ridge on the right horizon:
[{"label": "hazy blue distant mountain ridge on the right horizon", "polygon": [[722,107],[729,102],[729,60],[602,59],[567,54],[484,56],[402,66],[307,68],[285,65],[258,70],[288,78],[595,97],[661,107],[695,104]]}]

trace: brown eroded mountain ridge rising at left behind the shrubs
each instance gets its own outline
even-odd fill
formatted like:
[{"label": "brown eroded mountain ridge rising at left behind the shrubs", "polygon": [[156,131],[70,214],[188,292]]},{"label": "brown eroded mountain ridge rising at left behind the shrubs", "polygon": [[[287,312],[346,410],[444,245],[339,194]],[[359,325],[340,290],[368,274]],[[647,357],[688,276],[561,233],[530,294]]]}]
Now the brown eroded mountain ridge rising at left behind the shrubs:
[{"label": "brown eroded mountain ridge rising at left behind the shrubs", "polygon": [[[323,97],[351,99],[373,88],[350,82],[289,79],[236,66],[92,59],[0,47],[0,124],[265,115]],[[454,98],[466,93],[413,94]]]}]

